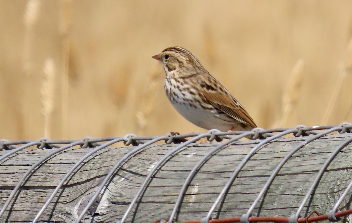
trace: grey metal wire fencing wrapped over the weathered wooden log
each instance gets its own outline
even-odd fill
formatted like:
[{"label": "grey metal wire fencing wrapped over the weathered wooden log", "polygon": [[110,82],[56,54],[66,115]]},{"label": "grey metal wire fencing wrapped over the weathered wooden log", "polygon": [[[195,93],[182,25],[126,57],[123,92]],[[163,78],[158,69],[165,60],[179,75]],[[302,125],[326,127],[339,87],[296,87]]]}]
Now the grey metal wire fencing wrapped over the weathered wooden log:
[{"label": "grey metal wire fencing wrapped over the weathered wooden log", "polygon": [[[49,207],[49,205],[53,202],[53,199],[57,196],[58,192],[62,188],[65,182],[68,181],[70,176],[81,167],[82,163],[84,163],[88,158],[92,157],[99,150],[112,146],[115,143],[122,142],[125,146],[132,145],[133,148],[128,151],[124,156],[122,156],[118,162],[115,163],[113,168],[111,168],[106,174],[105,178],[100,183],[99,187],[95,190],[94,195],[90,197],[89,202],[87,202],[84,209],[81,213],[76,217],[73,221],[75,223],[81,222],[83,217],[87,214],[90,207],[92,207],[93,203],[99,199],[99,196],[102,194],[102,191],[106,189],[109,182],[111,182],[114,175],[117,171],[122,167],[123,163],[126,162],[130,157],[135,154],[140,153],[148,146],[151,146],[157,142],[164,141],[166,144],[175,143],[177,146],[173,147],[168,153],[166,153],[161,159],[159,159],[150,169],[149,173],[145,176],[143,183],[139,186],[138,191],[130,201],[127,210],[124,212],[123,216],[116,221],[119,223],[127,222],[127,217],[131,215],[133,208],[136,203],[138,203],[138,199],[142,196],[143,191],[148,187],[149,182],[153,178],[153,176],[157,173],[157,171],[161,168],[161,166],[168,161],[170,157],[176,154],[178,151],[183,148],[189,146],[191,143],[195,143],[203,138],[206,138],[208,141],[217,141],[219,142],[216,147],[209,150],[206,155],[204,155],[196,165],[194,165],[193,169],[190,170],[186,179],[184,179],[184,183],[178,192],[177,199],[173,202],[174,208],[169,214],[169,218],[167,219],[157,219],[155,222],[168,222],[173,223],[177,221],[177,215],[180,211],[180,207],[182,205],[184,196],[186,195],[187,189],[197,174],[197,171],[205,164],[211,156],[218,153],[223,148],[231,145],[232,143],[239,141],[241,138],[250,137],[252,139],[259,139],[260,141],[257,144],[254,144],[252,150],[244,156],[242,161],[237,165],[236,169],[233,171],[232,175],[227,179],[227,183],[223,186],[221,191],[218,191],[217,198],[213,201],[211,207],[207,214],[201,218],[200,220],[195,219],[195,221],[187,221],[187,223],[225,223],[225,222],[241,222],[241,223],[249,223],[249,222],[288,222],[288,223],[303,223],[303,222],[316,222],[322,220],[328,220],[330,222],[337,222],[343,216],[348,216],[352,214],[352,209],[347,210],[339,210],[341,203],[344,201],[346,196],[349,195],[350,190],[352,188],[352,177],[348,179],[350,182],[347,187],[344,188],[341,196],[335,201],[333,208],[325,215],[320,215],[317,211],[312,211],[309,215],[305,217],[301,217],[300,213],[309,202],[311,195],[314,193],[318,184],[323,176],[326,173],[326,169],[329,164],[333,161],[333,159],[337,156],[337,154],[348,146],[352,142],[352,137],[347,137],[344,142],[339,144],[338,147],[334,148],[333,152],[329,154],[326,158],[325,162],[321,166],[318,173],[314,178],[313,183],[310,188],[306,191],[306,196],[301,201],[300,204],[297,204],[297,208],[294,214],[289,217],[277,217],[277,216],[257,216],[252,217],[252,212],[256,205],[260,201],[265,198],[266,192],[269,190],[272,182],[275,177],[278,175],[279,171],[282,169],[283,165],[292,157],[298,150],[302,147],[306,146],[308,143],[313,142],[323,136],[332,133],[351,133],[352,125],[350,123],[343,123],[339,126],[315,126],[315,127],[305,127],[305,126],[297,126],[296,128],[277,128],[277,129],[260,129],[256,128],[252,131],[231,131],[231,132],[221,132],[219,130],[213,129],[209,130],[206,133],[189,133],[189,134],[177,134],[177,133],[169,133],[165,136],[157,136],[157,137],[143,137],[136,136],[133,134],[128,134],[124,137],[105,137],[105,138],[91,138],[85,137],[82,140],[50,140],[48,138],[41,138],[39,140],[21,140],[21,141],[8,141],[8,140],[0,140],[0,150],[8,150],[0,156],[0,166],[4,160],[10,159],[16,153],[19,153],[22,150],[27,148],[31,148],[36,146],[37,149],[51,149],[50,152],[46,153],[43,157],[41,157],[36,163],[31,165],[29,169],[21,176],[18,183],[15,187],[11,188],[12,192],[10,196],[8,196],[5,200],[5,203],[0,203],[0,219],[6,219],[8,216],[5,216],[5,212],[8,210],[11,202],[14,200],[15,196],[18,194],[21,186],[25,185],[26,180],[31,176],[33,170],[37,169],[44,162],[48,161],[51,157],[55,156],[58,153],[62,153],[65,150],[68,150],[72,147],[80,147],[80,148],[92,148],[87,154],[82,156],[71,169],[65,174],[62,180],[58,183],[54,191],[50,194],[49,198],[45,201],[42,208],[38,211],[31,222],[36,223],[39,222],[39,218],[43,215],[44,211]],[[253,200],[252,205],[245,211],[245,213],[240,217],[233,218],[222,218],[222,219],[212,219],[212,215],[217,207],[221,207],[226,199],[226,195],[230,190],[235,179],[238,177],[239,173],[242,171],[244,166],[251,160],[252,156],[258,151],[260,151],[266,144],[273,142],[277,139],[283,138],[284,136],[294,135],[298,136],[307,136],[303,141],[299,142],[289,153],[287,153],[281,161],[277,164],[276,168],[272,171],[270,177],[265,182],[264,186],[260,190],[260,192],[256,195],[256,199]],[[224,140],[225,139],[225,140]],[[53,149],[54,148],[54,149]],[[49,150],[48,150],[49,151]],[[8,215],[11,212],[7,213]],[[318,216],[312,216],[316,214]],[[153,219],[155,220],[155,219]],[[151,221],[153,222],[153,221]]]}]

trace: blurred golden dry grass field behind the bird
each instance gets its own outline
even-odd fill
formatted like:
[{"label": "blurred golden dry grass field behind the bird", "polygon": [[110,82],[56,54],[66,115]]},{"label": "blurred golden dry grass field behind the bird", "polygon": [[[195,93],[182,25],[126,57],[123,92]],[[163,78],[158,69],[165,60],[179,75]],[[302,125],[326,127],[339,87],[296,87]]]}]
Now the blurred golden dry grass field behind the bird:
[{"label": "blurred golden dry grass field behind the bird", "polygon": [[0,138],[205,131],[165,96],[190,50],[258,126],[352,121],[352,1],[0,0]]}]

